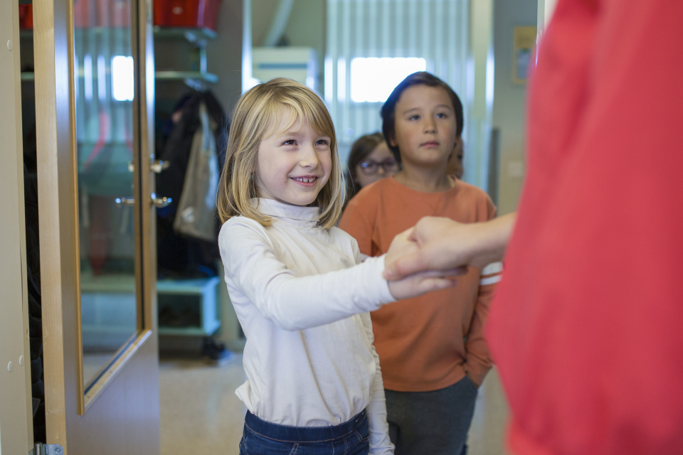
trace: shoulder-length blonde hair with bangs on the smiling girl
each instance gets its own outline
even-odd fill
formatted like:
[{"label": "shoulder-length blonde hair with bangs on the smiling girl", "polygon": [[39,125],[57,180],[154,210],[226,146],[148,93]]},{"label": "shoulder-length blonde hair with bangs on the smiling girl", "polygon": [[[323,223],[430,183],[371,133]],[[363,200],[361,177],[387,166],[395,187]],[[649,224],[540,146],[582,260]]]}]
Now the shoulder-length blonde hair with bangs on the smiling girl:
[{"label": "shoulder-length blonde hair with bangs on the smiling girl", "polygon": [[313,90],[295,80],[278,77],[245,92],[235,106],[228,134],[226,164],[218,182],[216,205],[221,223],[233,216],[244,215],[264,226],[272,224],[271,218],[250,203],[251,198],[258,198],[252,172],[256,168],[261,141],[275,133],[287,111],[295,115],[285,129],[300,120],[318,134],[330,137],[332,169],[314,204],[319,206],[318,224],[322,228],[332,228],[342,215],[344,177],[332,117]]}]

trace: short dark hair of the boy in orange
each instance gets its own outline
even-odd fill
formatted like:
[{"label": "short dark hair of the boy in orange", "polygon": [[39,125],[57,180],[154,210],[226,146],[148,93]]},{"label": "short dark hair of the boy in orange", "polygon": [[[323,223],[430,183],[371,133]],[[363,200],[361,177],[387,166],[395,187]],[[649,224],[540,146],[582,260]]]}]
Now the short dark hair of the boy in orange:
[{"label": "short dark hair of the boy in orange", "polygon": [[413,85],[427,85],[428,87],[441,87],[448,93],[451,102],[453,103],[453,110],[455,111],[455,134],[460,137],[462,134],[462,102],[460,102],[460,97],[457,96],[455,91],[443,80],[426,71],[418,71],[418,73],[413,73],[408,75],[406,79],[403,79],[396,85],[393,89],[391,95],[386,99],[386,102],[382,106],[380,115],[382,117],[382,133],[384,134],[384,139],[386,144],[388,144],[389,149],[393,152],[396,159],[401,159],[398,154],[398,147],[391,145],[391,139],[396,136],[396,103],[401,94]]}]

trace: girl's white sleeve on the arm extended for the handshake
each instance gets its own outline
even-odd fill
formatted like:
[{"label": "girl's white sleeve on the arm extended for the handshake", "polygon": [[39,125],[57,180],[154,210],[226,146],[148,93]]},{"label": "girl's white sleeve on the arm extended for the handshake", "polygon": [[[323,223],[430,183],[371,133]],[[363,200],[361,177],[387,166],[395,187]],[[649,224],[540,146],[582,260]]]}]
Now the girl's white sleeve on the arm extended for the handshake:
[{"label": "girl's white sleeve on the arm extended for the handshake", "polygon": [[226,274],[260,314],[280,328],[321,326],[395,300],[381,276],[383,256],[355,267],[295,277],[275,256],[261,225],[245,218],[227,223],[218,240]]}]

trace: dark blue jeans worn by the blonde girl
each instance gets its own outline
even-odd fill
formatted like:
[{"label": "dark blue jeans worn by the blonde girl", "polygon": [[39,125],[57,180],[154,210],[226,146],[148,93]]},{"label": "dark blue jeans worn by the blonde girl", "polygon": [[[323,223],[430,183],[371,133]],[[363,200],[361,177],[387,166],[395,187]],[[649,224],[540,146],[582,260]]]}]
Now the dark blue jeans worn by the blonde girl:
[{"label": "dark blue jeans worn by the blonde girl", "polygon": [[367,455],[369,450],[365,411],[334,427],[287,427],[247,411],[240,441],[240,455]]}]

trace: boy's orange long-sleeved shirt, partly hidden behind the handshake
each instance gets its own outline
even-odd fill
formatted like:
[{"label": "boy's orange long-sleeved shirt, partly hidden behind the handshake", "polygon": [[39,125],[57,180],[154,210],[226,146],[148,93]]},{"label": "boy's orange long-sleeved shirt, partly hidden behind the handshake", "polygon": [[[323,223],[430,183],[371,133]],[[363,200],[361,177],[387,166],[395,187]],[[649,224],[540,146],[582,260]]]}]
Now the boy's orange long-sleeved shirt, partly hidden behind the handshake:
[{"label": "boy's orange long-sleeved shirt, partly hidden behind the handshake", "polygon": [[[423,216],[462,223],[493,218],[495,207],[479,188],[456,181],[449,191],[422,193],[384,178],[351,199],[339,228],[365,255],[385,253],[398,233]],[[497,281],[470,269],[457,287],[398,301],[371,313],[384,387],[401,392],[439,390],[465,377],[481,384],[491,368],[483,324]]]}]

